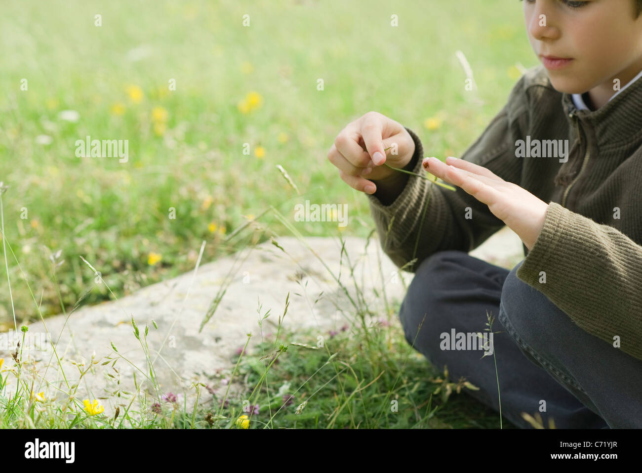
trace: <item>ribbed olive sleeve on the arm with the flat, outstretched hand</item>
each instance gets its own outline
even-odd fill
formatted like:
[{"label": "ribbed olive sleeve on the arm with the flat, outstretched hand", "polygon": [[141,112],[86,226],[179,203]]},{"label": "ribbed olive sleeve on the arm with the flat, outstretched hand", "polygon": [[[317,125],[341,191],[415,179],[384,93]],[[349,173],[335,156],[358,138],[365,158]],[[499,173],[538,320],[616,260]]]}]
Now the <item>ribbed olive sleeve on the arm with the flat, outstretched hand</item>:
[{"label": "ribbed olive sleeve on the arm with the flat, outstretched hand", "polygon": [[517,277],[589,334],[611,345],[619,337],[619,349],[642,360],[642,247],[618,229],[549,202]]}]

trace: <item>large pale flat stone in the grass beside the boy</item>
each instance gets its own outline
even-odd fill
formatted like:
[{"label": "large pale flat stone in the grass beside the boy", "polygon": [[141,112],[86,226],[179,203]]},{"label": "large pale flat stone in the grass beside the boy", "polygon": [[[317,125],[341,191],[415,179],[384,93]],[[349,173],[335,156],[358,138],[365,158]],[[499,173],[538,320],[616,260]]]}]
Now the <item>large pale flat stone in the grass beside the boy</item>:
[{"label": "large pale flat stone in the grass beside the boy", "polygon": [[[506,230],[493,235],[471,254],[512,267],[507,262],[513,261],[514,264],[523,258],[521,241],[512,231]],[[57,357],[61,359],[69,385],[78,380],[78,368],[73,366],[73,361],[82,362],[84,359],[86,367],[91,362],[92,352],[96,353],[96,360],[106,361],[105,357],[116,355],[111,346],[114,343],[118,355],[126,359],[119,359],[116,363],[120,372],[112,370],[110,364],[94,364],[94,373],[90,371],[83,377],[76,393],[80,400],[108,398],[101,402],[105,406],[105,415],[110,416],[116,409],[111,393],[117,388],[130,393],[137,391],[134,373],[140,384],[148,371],[145,351],[134,336],[132,316],[141,340],[145,327],[149,328],[147,345],[161,393],[186,392],[192,402],[195,390],[190,389],[190,385],[193,381],[216,384],[216,393],[220,394],[220,380],[213,381],[208,376],[211,377],[216,370],[225,372],[233,368],[234,353],[245,344],[249,332],[252,333],[250,347],[261,341],[259,305],[261,317],[270,310],[270,316],[263,321],[263,335],[269,334],[270,341],[274,339],[279,316],[284,312],[288,292],[290,299],[282,321],[284,328],[312,328],[318,330],[319,335],[327,336],[329,330],[340,330],[341,326],[349,325],[356,313],[335,278],[341,281],[360,307],[363,307],[363,303],[358,302],[361,298],[367,301],[367,307],[372,311],[370,316],[374,319],[386,316],[382,287],[385,286],[388,307],[392,311],[395,304],[401,303],[412,280],[413,274],[397,272],[394,263],[381,251],[376,235],[368,245],[362,238],[345,238],[343,253],[338,238],[306,238],[309,247],[293,237],[278,237],[275,241],[284,251],[272,242],[264,242],[232,256],[202,263],[198,271],[145,287],[117,301],[79,308],[67,320],[64,316],[50,317],[46,319],[46,329],[42,322],[33,323],[29,326],[28,335],[30,340],[37,340],[39,334],[44,337],[48,332],[51,339],[57,341]],[[300,274],[304,276],[299,278]],[[358,296],[356,286],[361,296]],[[216,312],[199,332],[217,292],[225,287],[227,289]],[[393,319],[397,320],[396,317]],[[158,329],[154,328],[152,320]],[[2,335],[6,341],[7,334]],[[51,344],[45,343],[44,351],[33,348],[30,343],[24,345],[23,357],[27,353],[32,355],[39,373],[34,391],[44,390],[46,397],[57,395],[64,399],[69,388]],[[3,368],[13,365],[8,350],[0,350],[0,357],[5,361]],[[49,368],[45,370],[47,364]],[[107,373],[116,378],[108,377]],[[9,375],[8,378],[8,386],[13,382],[15,389],[15,377]],[[46,382],[42,381],[43,378]],[[116,379],[120,380],[119,386]],[[147,382],[146,386],[147,392],[157,397],[157,393],[150,389],[152,383]],[[142,391],[145,391],[144,387]],[[208,394],[202,388],[202,397]],[[123,395],[118,400],[121,412],[130,398],[130,395]],[[138,401],[135,406],[140,408]]]}]

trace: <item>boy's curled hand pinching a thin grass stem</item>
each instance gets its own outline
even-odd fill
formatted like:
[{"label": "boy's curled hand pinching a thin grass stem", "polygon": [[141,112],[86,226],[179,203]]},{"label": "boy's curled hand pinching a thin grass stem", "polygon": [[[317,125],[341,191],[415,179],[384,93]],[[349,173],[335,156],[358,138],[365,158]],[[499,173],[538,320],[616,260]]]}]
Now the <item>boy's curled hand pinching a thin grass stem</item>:
[{"label": "boy's curled hand pinching a thin grass stem", "polygon": [[[384,150],[394,143],[396,154],[392,154],[394,147]],[[372,194],[377,190],[376,181],[399,173],[383,163],[403,168],[410,163],[414,152],[415,141],[401,123],[381,113],[368,112],[348,123],[334,138],[327,159],[339,168],[339,176],[346,184]]]}]

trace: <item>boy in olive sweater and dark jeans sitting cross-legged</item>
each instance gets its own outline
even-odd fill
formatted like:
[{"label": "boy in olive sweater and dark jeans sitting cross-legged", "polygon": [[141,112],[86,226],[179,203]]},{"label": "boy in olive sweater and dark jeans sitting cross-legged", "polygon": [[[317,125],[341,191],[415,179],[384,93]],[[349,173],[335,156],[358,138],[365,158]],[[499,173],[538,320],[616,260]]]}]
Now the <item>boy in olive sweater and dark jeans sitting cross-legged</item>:
[{"label": "boy in olive sweater and dark jeans sitting cross-legged", "polygon": [[[520,427],[523,413],[545,427],[642,427],[642,0],[527,0],[524,13],[542,65],[462,159],[422,161],[417,135],[376,112],[328,159],[369,194],[393,262],[417,258],[399,317],[433,365],[497,410],[499,380]],[[504,225],[524,245],[512,271],[467,254]],[[487,313],[498,379],[494,357],[442,343],[483,332]]]}]

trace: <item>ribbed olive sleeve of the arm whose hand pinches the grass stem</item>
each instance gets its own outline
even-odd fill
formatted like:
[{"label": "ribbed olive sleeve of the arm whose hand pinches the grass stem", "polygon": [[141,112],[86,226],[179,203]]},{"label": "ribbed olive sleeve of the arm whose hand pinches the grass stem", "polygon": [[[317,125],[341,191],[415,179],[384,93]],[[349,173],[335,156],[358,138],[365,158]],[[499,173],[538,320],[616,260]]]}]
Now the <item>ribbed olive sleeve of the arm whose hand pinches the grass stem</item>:
[{"label": "ribbed olive sleeve of the arm whose hand pinches the grass stem", "polygon": [[[519,184],[522,160],[515,157],[515,142],[525,136],[526,127],[528,97],[522,76],[506,105],[461,159],[484,166],[505,181]],[[407,127],[406,130],[415,141],[413,172],[428,176],[421,164],[424,157],[421,140],[412,130]],[[437,251],[471,251],[505,225],[486,204],[462,188],[451,191],[412,175],[401,194],[388,206],[375,195],[367,197],[381,247],[392,262],[402,267],[417,258],[414,265],[405,268],[410,272],[415,272],[424,258]],[[426,204],[425,219],[422,219]]]}]

